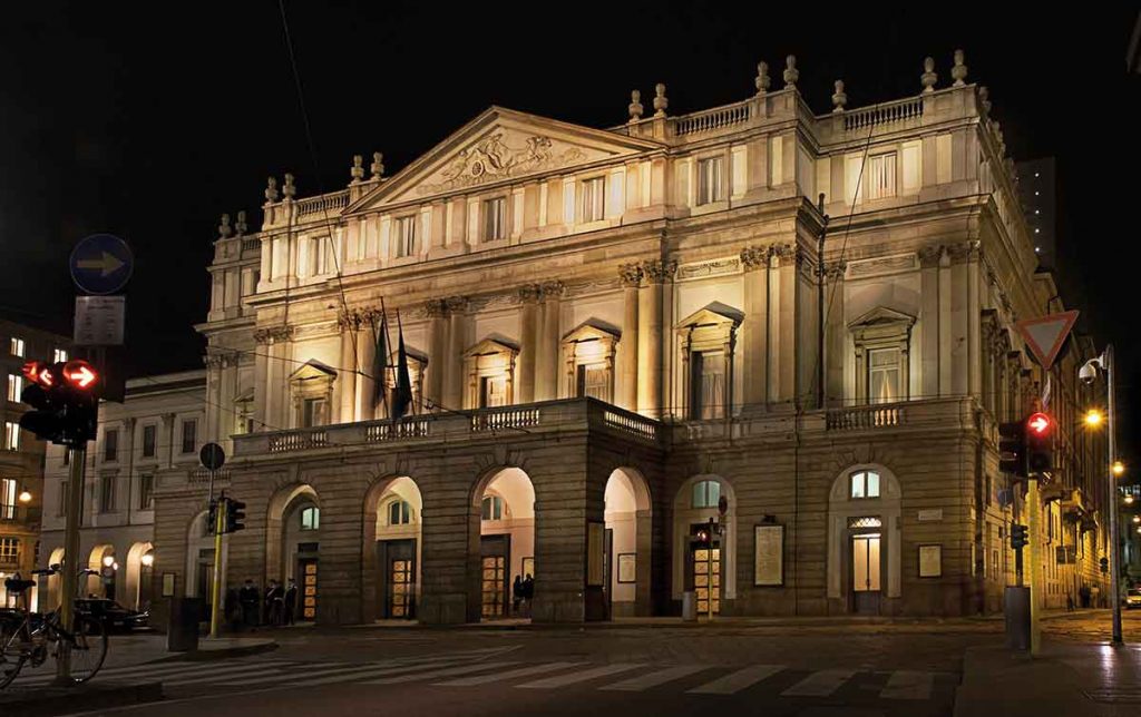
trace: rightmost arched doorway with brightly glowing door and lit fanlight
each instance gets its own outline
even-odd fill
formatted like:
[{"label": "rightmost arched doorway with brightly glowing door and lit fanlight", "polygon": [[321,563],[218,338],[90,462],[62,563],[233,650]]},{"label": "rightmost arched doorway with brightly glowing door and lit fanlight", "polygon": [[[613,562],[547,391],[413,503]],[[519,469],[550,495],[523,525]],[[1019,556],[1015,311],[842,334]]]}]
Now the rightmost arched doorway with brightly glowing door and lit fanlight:
[{"label": "rightmost arched doorway with brightly glowing door and lit fanlight", "polygon": [[833,612],[891,614],[900,593],[899,481],[882,465],[843,471],[828,494]]}]

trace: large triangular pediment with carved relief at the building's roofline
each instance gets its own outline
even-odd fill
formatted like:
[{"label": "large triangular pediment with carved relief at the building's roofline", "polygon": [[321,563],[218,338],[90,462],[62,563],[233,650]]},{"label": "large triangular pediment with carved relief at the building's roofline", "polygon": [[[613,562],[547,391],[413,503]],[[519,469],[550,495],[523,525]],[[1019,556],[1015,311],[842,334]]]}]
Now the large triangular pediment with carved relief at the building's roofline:
[{"label": "large triangular pediment with carved relief at the building's roofline", "polygon": [[491,107],[357,199],[345,213],[423,202],[568,168],[605,164],[662,147],[658,142],[606,130]]}]

